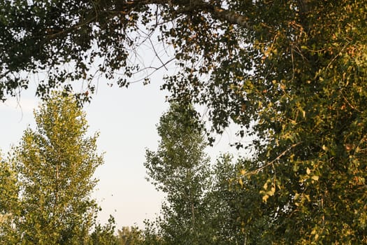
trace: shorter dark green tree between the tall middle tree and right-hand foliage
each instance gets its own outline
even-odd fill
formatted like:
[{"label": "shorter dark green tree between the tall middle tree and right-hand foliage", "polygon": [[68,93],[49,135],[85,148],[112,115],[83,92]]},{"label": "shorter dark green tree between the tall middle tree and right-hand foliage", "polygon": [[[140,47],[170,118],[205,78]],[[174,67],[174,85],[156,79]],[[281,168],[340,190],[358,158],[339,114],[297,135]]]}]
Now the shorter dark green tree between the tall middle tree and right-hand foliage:
[{"label": "shorter dark green tree between the tall middle tree and right-hand foliage", "polygon": [[[208,221],[215,234],[212,244],[271,244],[275,241],[268,231],[273,228],[272,209],[261,194],[266,176],[247,174],[255,169],[245,158],[233,161],[221,155],[213,165],[213,186],[208,191]],[[246,170],[245,170],[246,169]]]}]

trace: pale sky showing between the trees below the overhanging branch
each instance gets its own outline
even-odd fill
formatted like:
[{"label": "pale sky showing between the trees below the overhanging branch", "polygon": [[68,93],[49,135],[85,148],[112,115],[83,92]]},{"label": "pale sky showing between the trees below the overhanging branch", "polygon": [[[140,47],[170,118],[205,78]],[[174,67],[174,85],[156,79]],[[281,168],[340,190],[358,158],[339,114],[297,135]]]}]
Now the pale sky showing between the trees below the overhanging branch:
[{"label": "pale sky showing between the trees below the overhanging branch", "polygon": [[[97,144],[99,152],[105,153],[104,165],[95,173],[99,183],[92,195],[102,208],[101,223],[106,223],[111,214],[117,228],[130,225],[143,228],[146,218],[153,220],[159,214],[164,195],[145,180],[143,162],[146,148],[157,149],[156,125],[168,109],[167,92],[159,90],[161,83],[157,76],[148,85],[134,83],[128,89],[99,82],[92,102],[84,108],[89,132],[100,132]],[[39,103],[34,92],[31,86],[20,97],[0,102],[3,155],[12,144],[19,143],[27,126],[34,128],[33,110]],[[226,130],[215,146],[207,149],[212,161],[220,153],[233,151],[229,146],[233,134]]]}]

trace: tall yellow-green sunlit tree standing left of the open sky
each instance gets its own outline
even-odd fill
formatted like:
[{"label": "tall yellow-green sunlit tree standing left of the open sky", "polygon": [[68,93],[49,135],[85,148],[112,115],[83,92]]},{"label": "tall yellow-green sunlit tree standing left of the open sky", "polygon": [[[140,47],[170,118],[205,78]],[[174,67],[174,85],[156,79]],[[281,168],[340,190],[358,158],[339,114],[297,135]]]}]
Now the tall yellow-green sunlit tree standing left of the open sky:
[{"label": "tall yellow-green sunlit tree standing left of the open sky", "polygon": [[56,94],[34,116],[36,130],[25,130],[14,152],[22,210],[15,227],[26,244],[86,244],[98,209],[89,197],[103,162],[98,134],[87,137],[72,97]]}]

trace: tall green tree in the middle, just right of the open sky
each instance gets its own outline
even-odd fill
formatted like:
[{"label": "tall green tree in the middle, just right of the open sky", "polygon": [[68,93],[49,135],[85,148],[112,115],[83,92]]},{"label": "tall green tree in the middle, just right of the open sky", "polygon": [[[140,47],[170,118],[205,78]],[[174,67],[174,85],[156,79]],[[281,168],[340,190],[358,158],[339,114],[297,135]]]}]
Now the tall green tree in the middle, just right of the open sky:
[{"label": "tall green tree in the middle, just right of the open sky", "polygon": [[157,225],[167,244],[210,244],[205,200],[210,166],[195,116],[192,106],[171,104],[157,127],[157,152],[146,152],[149,180],[166,193]]}]

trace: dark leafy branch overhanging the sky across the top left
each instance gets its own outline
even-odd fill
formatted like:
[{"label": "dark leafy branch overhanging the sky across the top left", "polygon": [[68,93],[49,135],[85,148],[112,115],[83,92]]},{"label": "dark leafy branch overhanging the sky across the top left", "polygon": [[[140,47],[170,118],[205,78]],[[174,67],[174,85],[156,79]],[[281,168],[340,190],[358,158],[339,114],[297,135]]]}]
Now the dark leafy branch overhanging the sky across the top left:
[{"label": "dark leafy branch overhanging the sky across the top left", "polygon": [[[40,7],[42,11],[39,13],[36,11],[38,3],[24,2],[16,14],[8,16],[8,26],[0,27],[3,34],[0,35],[0,50],[5,53],[0,57],[3,64],[0,69],[0,100],[6,99],[7,94],[13,96],[19,87],[27,87],[27,78],[16,76],[20,74],[19,71],[25,71],[24,74],[44,69],[52,71],[48,72],[48,80],[52,82],[38,86],[38,95],[47,94],[50,88],[65,84],[66,80],[83,78],[89,83],[94,75],[86,76],[89,71],[89,65],[84,60],[86,58],[92,62],[96,57],[103,57],[103,66],[99,71],[108,78],[113,78],[113,73],[120,69],[130,78],[139,69],[135,64],[127,65],[131,53],[128,48],[136,47],[139,43],[134,43],[127,33],[138,36],[136,31],[139,27],[147,27],[149,22],[155,24],[149,27],[150,31],[154,31],[159,19],[164,25],[165,22],[179,20],[182,15],[199,16],[252,29],[247,21],[249,18],[242,12],[231,10],[231,6],[221,7],[211,0],[66,2],[75,4],[66,8],[63,4],[50,3],[49,8]],[[151,13],[150,8],[154,7],[157,7],[157,16]],[[27,25],[24,25],[23,19],[27,20]],[[19,32],[20,27],[23,36],[10,34],[11,31]],[[98,43],[96,50],[93,50],[94,43]],[[76,64],[75,69],[60,69],[59,66],[66,63]],[[161,64],[164,67],[166,63]],[[121,84],[125,84],[126,78],[119,79],[122,79]],[[69,90],[69,87],[66,89]]]}]

